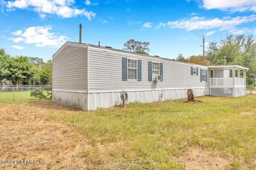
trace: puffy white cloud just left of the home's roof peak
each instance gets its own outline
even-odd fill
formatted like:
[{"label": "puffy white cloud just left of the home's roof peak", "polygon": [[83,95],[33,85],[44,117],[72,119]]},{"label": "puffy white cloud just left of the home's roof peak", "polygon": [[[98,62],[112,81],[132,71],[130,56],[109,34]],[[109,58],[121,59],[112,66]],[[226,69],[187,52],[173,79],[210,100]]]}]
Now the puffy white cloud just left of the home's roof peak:
[{"label": "puffy white cloud just left of the home's roof peak", "polygon": [[50,26],[29,27],[19,37],[11,38],[11,40],[15,43],[24,42],[26,44],[34,44],[37,47],[59,47],[67,41],[68,38],[66,36],[57,36],[55,32],[50,32],[51,29]]}]

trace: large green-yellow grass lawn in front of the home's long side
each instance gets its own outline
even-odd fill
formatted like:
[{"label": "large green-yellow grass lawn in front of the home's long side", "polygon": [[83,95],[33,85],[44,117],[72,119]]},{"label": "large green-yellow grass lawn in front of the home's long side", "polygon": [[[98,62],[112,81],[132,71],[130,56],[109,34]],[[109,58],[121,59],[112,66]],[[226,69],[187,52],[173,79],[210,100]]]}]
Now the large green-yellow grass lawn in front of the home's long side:
[{"label": "large green-yellow grass lawn in front of the home's long side", "polygon": [[177,159],[191,148],[218,151],[227,169],[255,169],[256,96],[197,99],[202,102],[138,103],[53,118],[89,140],[92,149],[83,155],[96,169],[184,169]]}]

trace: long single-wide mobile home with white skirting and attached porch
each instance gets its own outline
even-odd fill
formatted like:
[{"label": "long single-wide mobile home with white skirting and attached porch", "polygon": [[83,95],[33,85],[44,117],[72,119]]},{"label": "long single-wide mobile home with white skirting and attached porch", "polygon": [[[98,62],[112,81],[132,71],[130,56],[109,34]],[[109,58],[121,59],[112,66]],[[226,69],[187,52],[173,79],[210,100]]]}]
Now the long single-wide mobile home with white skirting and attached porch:
[{"label": "long single-wide mobile home with white skirting and attached porch", "polygon": [[53,55],[52,99],[84,111],[128,102],[150,103],[195,96],[244,96],[249,69],[205,66],[111,47],[67,42]]}]

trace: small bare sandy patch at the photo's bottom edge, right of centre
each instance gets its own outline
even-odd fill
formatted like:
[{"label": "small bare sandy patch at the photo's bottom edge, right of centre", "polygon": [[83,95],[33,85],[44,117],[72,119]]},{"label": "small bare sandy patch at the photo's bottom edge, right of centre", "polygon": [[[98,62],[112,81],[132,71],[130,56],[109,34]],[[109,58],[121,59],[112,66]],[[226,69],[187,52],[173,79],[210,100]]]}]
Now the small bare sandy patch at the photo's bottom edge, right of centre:
[{"label": "small bare sandy patch at the photo's bottom edge, right of centre", "polygon": [[185,165],[188,170],[217,170],[227,169],[230,160],[221,157],[219,153],[201,148],[190,148],[185,155],[178,159],[178,162]]}]

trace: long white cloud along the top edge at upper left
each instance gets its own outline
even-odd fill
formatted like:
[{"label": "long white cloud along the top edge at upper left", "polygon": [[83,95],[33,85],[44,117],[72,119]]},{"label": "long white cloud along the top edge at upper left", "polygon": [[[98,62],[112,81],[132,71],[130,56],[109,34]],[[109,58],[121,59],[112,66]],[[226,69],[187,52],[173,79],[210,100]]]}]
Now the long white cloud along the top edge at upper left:
[{"label": "long white cloud along the top edge at upper left", "polygon": [[86,16],[87,19],[91,20],[95,16],[92,11],[86,11],[72,7],[74,0],[15,0],[7,1],[7,11],[12,11],[15,8],[34,10],[39,13],[41,18],[45,18],[45,14],[58,15],[62,18],[71,18],[77,15]]}]

